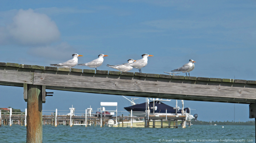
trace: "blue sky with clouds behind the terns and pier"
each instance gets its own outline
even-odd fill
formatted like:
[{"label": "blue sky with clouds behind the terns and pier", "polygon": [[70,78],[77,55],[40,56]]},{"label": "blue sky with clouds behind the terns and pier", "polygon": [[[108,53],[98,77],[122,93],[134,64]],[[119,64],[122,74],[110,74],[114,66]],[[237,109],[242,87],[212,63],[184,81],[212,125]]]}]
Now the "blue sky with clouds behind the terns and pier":
[{"label": "blue sky with clouds behind the terns and pier", "polygon": [[[0,62],[49,66],[78,57],[78,64],[104,57],[107,64],[148,57],[143,73],[165,74],[196,61],[191,76],[256,80],[256,1],[4,1],[0,0]],[[93,69],[89,67],[74,67]],[[138,72],[132,69],[130,72]],[[178,75],[186,75],[181,73]],[[47,90],[43,110],[78,111],[118,102],[122,96]],[[127,97],[131,99],[131,97]],[[23,88],[0,86],[0,108],[25,110]],[[139,97],[136,103],[144,103]],[[176,100],[164,102],[176,105]],[[178,106],[182,107],[178,100]],[[248,121],[248,104],[184,101],[202,121]],[[113,107],[112,107],[113,108]],[[112,110],[106,107],[106,110]],[[51,111],[43,111],[45,112]]]}]

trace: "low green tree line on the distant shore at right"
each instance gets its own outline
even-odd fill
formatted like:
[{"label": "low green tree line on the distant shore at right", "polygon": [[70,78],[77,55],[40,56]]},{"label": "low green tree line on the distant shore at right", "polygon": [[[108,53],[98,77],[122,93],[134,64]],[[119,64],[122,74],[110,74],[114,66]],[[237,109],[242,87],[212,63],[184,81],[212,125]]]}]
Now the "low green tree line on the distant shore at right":
[{"label": "low green tree line on the distant shore at right", "polygon": [[[191,124],[193,125],[210,125],[210,122],[206,121],[191,121]],[[224,122],[218,122],[218,121],[212,121],[211,125],[255,125],[255,121],[246,121],[246,122],[229,122],[229,121],[224,121]]]}]

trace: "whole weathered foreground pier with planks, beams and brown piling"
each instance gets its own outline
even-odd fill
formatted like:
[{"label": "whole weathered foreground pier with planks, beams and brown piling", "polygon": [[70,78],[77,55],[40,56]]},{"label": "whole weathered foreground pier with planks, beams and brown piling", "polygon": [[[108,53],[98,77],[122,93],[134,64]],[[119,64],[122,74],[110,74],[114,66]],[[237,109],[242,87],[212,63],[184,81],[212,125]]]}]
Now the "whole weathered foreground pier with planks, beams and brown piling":
[{"label": "whole weathered foreground pier with planks, beams and brown piling", "polygon": [[0,62],[0,85],[24,87],[28,123],[33,122],[27,124],[27,142],[42,142],[43,86],[45,89],[98,94],[251,104],[250,118],[256,118],[253,111],[256,106],[256,81]]}]

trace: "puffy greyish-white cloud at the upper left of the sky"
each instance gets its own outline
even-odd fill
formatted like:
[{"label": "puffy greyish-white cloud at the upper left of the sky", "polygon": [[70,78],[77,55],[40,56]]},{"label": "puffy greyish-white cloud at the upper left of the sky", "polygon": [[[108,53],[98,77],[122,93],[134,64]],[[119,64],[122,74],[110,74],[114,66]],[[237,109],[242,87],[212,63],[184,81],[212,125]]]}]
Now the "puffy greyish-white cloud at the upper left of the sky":
[{"label": "puffy greyish-white cloud at the upper left of the sky", "polygon": [[60,39],[60,31],[47,15],[19,10],[13,22],[0,27],[0,44],[46,45]]}]

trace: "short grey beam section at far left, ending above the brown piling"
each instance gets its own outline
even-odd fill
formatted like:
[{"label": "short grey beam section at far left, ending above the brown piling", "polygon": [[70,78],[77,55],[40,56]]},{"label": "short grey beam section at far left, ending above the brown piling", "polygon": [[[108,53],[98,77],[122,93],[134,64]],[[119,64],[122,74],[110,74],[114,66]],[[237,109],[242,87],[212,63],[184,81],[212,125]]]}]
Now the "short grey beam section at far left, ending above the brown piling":
[{"label": "short grey beam section at far left, ending above the brown piling", "polygon": [[[26,69],[24,69],[26,70]],[[34,72],[0,70],[0,81],[33,84]]]}]

